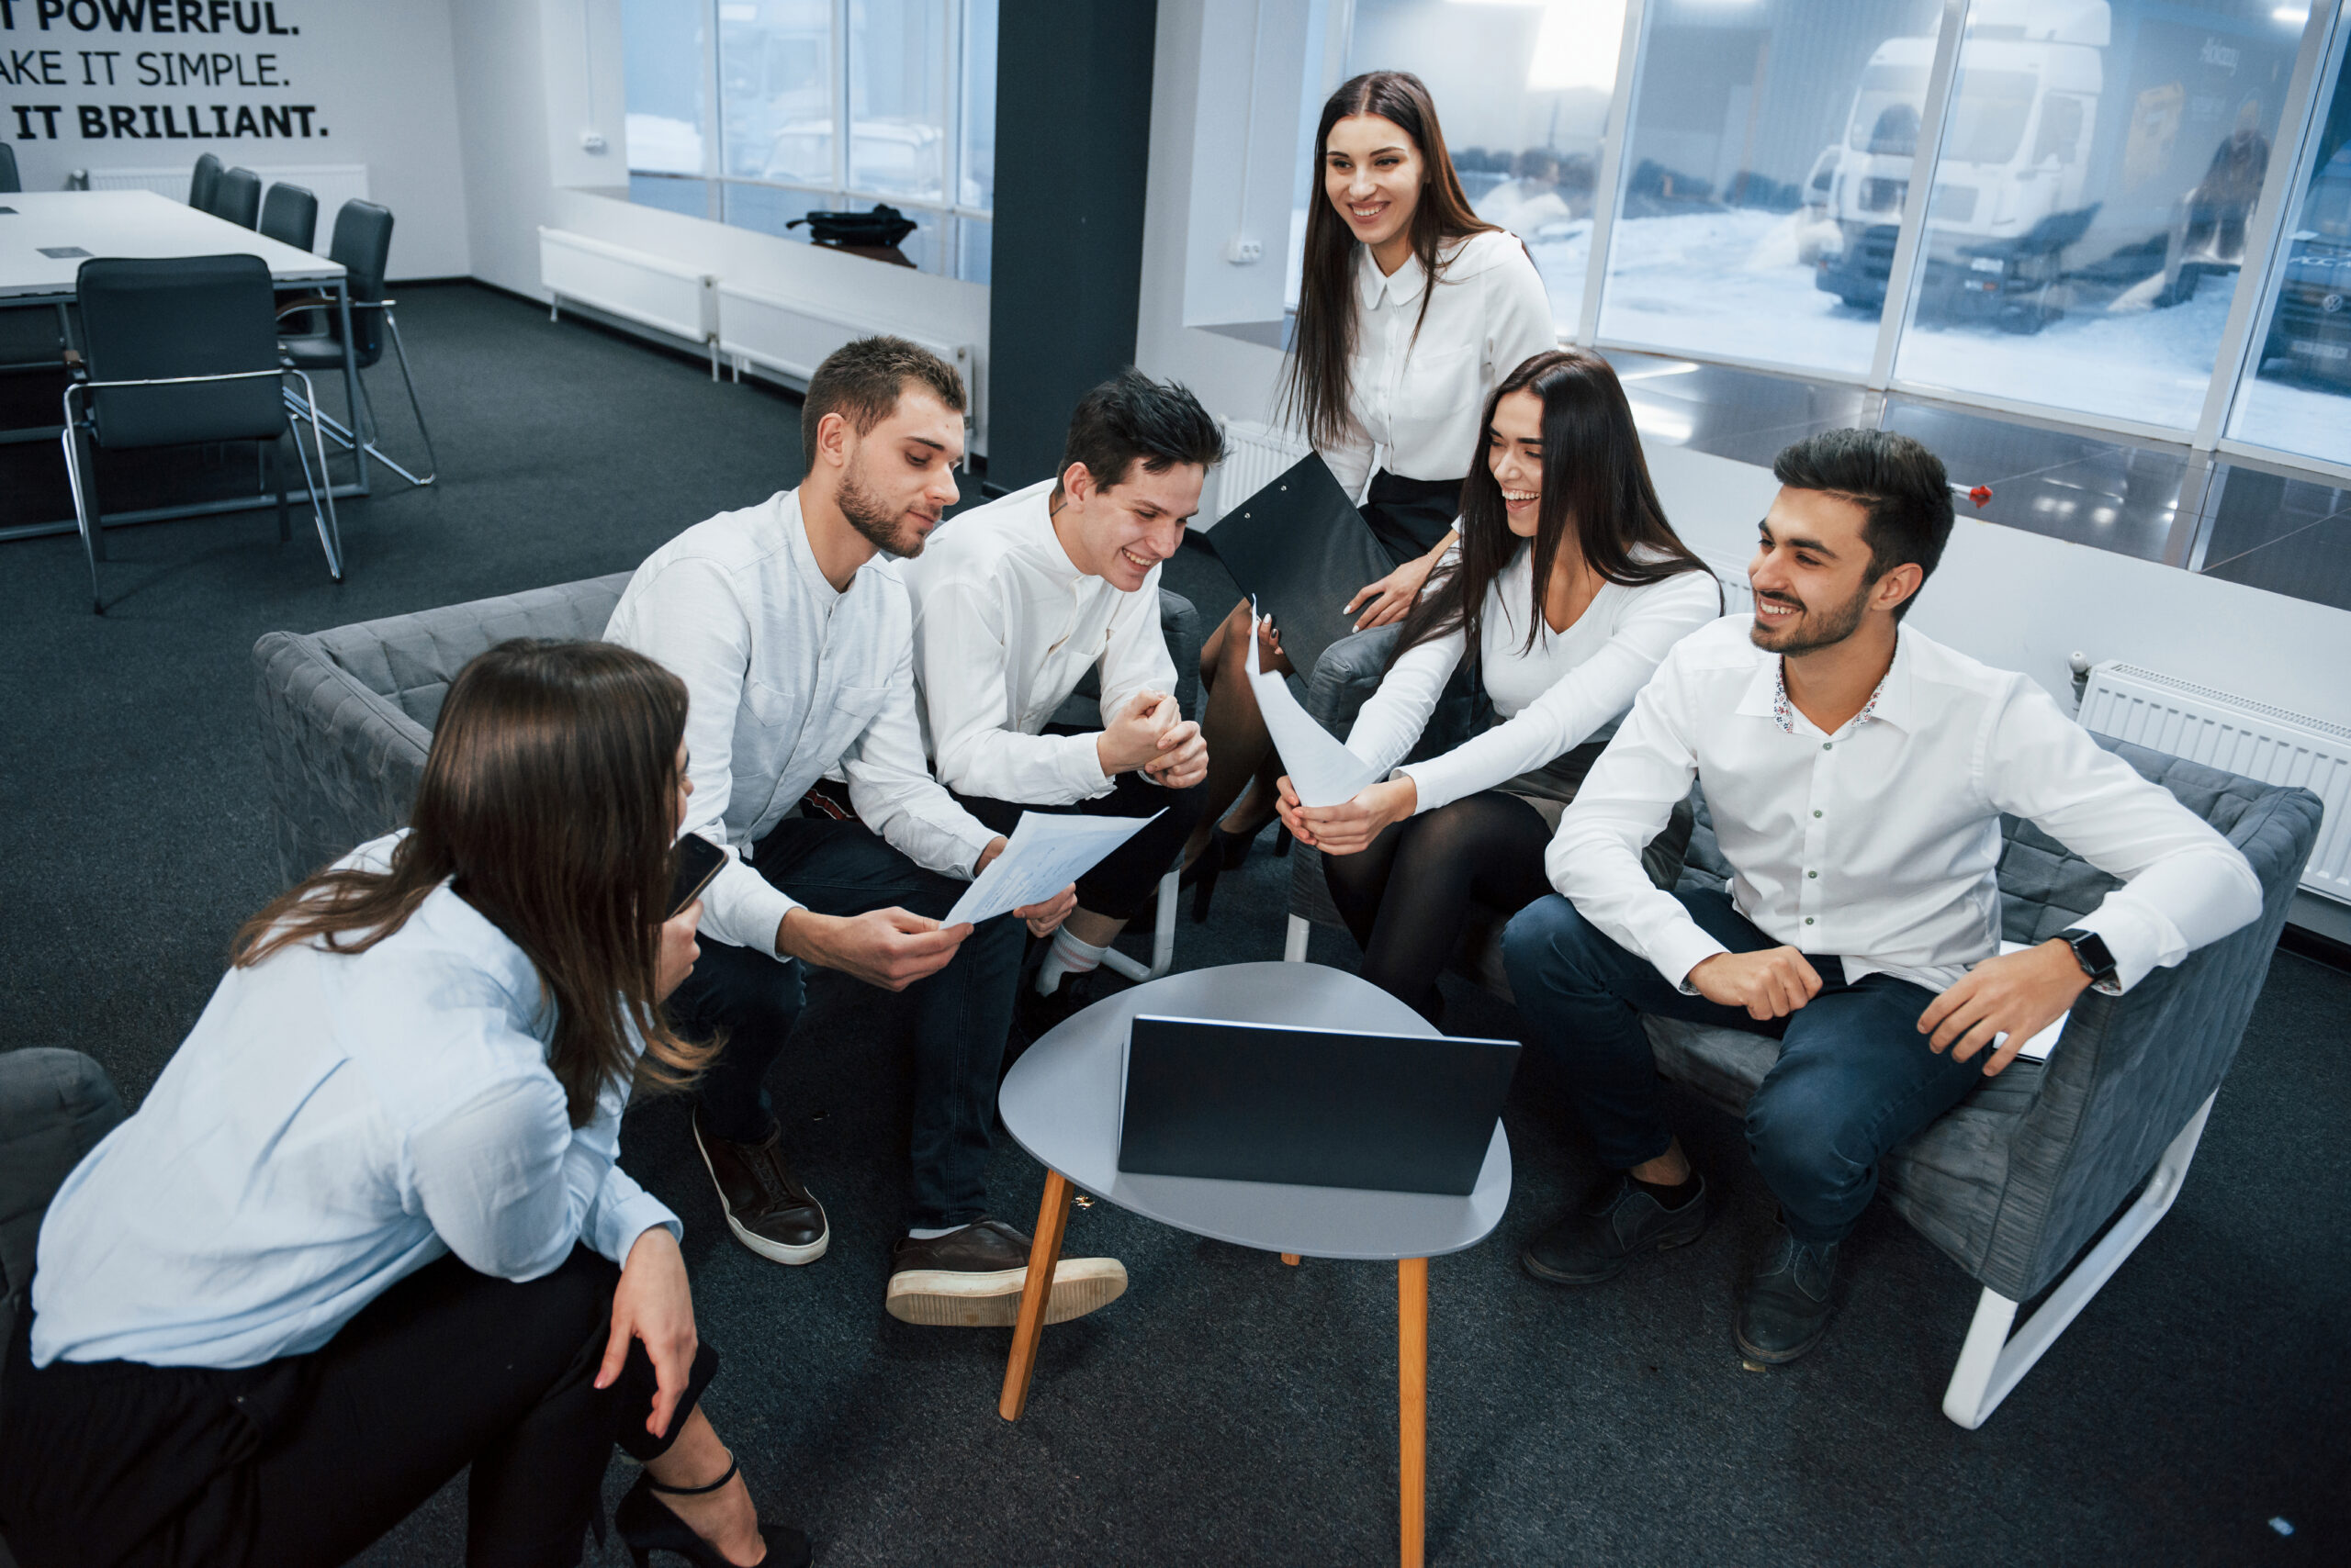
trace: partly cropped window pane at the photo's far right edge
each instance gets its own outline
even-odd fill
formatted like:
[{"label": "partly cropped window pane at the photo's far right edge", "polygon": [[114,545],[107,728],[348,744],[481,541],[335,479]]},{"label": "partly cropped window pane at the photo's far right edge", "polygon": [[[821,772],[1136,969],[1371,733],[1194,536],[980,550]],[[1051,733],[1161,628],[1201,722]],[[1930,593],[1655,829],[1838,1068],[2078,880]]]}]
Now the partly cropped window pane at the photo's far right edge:
[{"label": "partly cropped window pane at the photo's far right edge", "polygon": [[2278,247],[2269,317],[2255,329],[2229,435],[2351,465],[2351,56],[2316,118],[2309,176]]}]

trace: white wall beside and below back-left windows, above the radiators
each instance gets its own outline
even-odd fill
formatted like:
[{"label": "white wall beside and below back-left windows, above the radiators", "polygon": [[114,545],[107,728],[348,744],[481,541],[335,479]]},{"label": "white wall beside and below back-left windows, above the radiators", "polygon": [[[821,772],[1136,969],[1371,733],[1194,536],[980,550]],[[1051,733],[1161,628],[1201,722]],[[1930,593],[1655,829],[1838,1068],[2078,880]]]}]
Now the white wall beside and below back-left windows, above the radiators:
[{"label": "white wall beside and below back-left windows, above the radiators", "polygon": [[[987,451],[987,287],[820,252],[625,200],[618,0],[456,0],[458,115],[473,275],[538,287],[538,226],[684,261],[818,310],[971,343],[973,447]],[[609,150],[581,148],[600,132]]]}]

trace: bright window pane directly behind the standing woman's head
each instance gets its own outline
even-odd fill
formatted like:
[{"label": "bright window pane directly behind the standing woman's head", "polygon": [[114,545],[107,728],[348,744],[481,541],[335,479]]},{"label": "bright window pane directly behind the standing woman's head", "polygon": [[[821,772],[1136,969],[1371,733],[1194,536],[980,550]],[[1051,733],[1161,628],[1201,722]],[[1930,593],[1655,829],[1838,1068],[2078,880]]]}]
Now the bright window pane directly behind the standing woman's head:
[{"label": "bright window pane directly behind the standing woman's head", "polygon": [[[1427,82],[1469,205],[1526,242],[1552,320],[1573,334],[1625,0],[1354,0],[1352,24],[1345,75],[1411,71]],[[1314,120],[1302,115],[1305,143]],[[1300,146],[1300,167],[1314,162]],[[1324,200],[1312,174],[1300,200]]]}]

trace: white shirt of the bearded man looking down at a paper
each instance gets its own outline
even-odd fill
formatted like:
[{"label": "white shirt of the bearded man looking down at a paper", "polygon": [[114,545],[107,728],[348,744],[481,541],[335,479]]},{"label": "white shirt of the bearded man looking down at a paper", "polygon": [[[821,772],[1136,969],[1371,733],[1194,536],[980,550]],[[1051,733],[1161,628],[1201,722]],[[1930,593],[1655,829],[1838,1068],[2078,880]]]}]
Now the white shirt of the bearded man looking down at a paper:
[{"label": "white shirt of the bearded man looking down at a paper", "polygon": [[832,590],[809,550],[799,491],[719,512],[654,550],[604,639],[686,682],[686,832],[729,851],[701,933],[757,952],[797,900],[743,853],[818,778],[849,780],[858,818],[947,877],[971,877],[992,835],[938,788],[915,722],[915,611],[879,555]]}]

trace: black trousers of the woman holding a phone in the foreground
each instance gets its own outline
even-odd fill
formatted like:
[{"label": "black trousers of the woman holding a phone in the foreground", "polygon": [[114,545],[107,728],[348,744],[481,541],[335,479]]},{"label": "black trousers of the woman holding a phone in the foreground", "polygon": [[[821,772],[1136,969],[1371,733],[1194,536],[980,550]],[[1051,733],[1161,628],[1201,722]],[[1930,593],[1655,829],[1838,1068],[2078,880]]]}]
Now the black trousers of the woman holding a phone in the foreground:
[{"label": "black trousers of the woman holding a phone in the foreground", "polygon": [[470,1465],[465,1561],[569,1568],[611,1446],[661,1458],[717,1373],[703,1345],[663,1439],[644,1429],[642,1345],[597,1389],[618,1276],[588,1248],[520,1286],[442,1258],[320,1349],[240,1371],[33,1371],[21,1321],[0,1406],[0,1528],[24,1568],[327,1568]]}]

